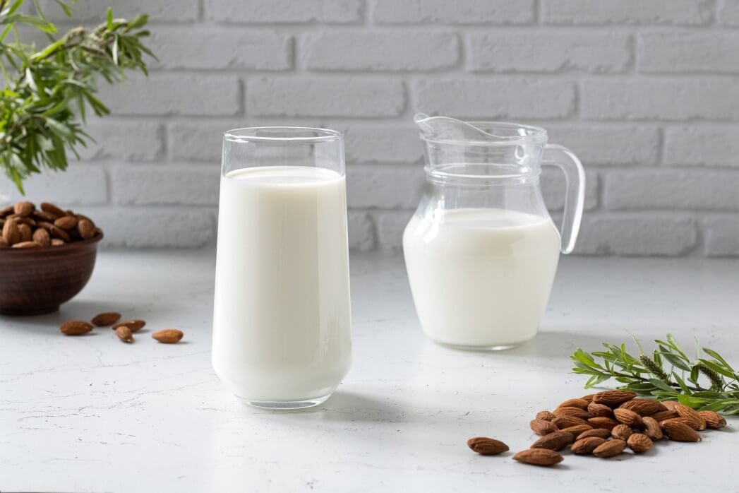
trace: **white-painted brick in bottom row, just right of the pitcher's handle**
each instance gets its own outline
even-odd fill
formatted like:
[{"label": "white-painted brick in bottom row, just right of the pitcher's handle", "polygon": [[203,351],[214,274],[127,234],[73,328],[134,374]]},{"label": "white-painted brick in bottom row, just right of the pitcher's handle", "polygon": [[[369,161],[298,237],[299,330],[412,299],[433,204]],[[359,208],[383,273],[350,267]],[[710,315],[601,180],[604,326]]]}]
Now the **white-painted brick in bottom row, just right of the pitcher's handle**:
[{"label": "white-painted brick in bottom row, just right of the pitcher's handle", "polygon": [[585,215],[575,253],[678,256],[696,242],[695,221],[687,217]]}]

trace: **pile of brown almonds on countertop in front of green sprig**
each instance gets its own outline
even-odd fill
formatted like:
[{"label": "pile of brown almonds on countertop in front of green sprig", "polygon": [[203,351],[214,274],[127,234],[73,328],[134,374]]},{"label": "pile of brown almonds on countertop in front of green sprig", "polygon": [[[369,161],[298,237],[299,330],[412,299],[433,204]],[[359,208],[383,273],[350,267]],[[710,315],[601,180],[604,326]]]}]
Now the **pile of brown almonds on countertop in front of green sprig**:
[{"label": "pile of brown almonds on countertop in front of green sprig", "polygon": [[[607,390],[568,399],[551,412],[538,412],[531,429],[542,438],[513,458],[535,466],[554,466],[564,460],[559,451],[568,446],[574,454],[599,458],[615,457],[627,447],[641,454],[663,437],[698,442],[699,431],[723,426],[726,420],[717,412],[695,411],[675,401],[636,398],[635,392],[627,390]],[[481,455],[508,450],[493,438],[470,438],[467,445]]]}]

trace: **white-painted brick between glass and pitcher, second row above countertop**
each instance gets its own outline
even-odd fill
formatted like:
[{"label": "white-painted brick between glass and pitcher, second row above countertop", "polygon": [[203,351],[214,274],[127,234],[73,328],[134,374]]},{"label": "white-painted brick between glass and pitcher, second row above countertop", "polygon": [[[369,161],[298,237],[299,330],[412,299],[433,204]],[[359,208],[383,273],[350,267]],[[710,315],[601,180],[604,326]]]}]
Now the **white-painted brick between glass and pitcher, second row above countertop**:
[{"label": "white-painted brick between glass and pitcher, second row above countertop", "polygon": [[347,204],[350,208],[415,208],[425,183],[420,166],[350,166]]}]

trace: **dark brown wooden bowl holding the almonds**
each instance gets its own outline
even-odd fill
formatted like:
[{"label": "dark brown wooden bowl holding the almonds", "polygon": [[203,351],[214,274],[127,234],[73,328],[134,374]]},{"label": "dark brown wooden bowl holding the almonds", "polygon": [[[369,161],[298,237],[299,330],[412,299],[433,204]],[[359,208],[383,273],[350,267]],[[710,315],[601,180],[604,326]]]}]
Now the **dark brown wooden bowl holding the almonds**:
[{"label": "dark brown wooden bowl holding the almonds", "polygon": [[85,287],[103,234],[58,247],[0,250],[0,313],[52,313]]}]

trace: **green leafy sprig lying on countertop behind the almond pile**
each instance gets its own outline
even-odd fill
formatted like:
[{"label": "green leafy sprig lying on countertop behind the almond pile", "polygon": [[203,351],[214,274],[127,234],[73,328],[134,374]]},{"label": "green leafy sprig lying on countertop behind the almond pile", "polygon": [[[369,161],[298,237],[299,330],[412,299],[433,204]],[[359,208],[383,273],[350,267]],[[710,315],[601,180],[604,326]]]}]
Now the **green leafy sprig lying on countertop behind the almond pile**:
[{"label": "green leafy sprig lying on countertop behind the almond pile", "polygon": [[639,349],[636,357],[627,352],[626,344],[619,347],[603,343],[605,351],[592,353],[578,348],[570,356],[575,363],[573,372],[590,375],[586,389],[614,378],[624,384],[619,388],[660,401],[678,401],[693,409],[724,415],[739,414],[739,373],[714,350],[699,348],[697,340],[695,358],[689,358],[675,336],[667,334],[665,339],[656,339],[657,348],[648,354],[635,338]]}]

